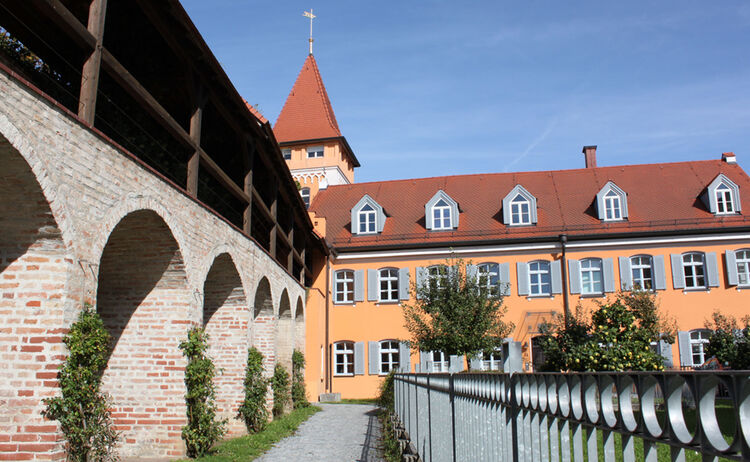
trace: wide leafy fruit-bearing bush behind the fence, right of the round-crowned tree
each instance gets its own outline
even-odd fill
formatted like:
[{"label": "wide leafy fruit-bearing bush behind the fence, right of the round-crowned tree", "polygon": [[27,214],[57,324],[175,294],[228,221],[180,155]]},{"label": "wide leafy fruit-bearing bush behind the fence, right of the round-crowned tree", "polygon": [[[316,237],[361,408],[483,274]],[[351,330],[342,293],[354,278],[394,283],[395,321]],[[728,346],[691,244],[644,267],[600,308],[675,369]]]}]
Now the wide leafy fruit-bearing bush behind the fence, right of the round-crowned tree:
[{"label": "wide leafy fruit-bearing bush behind the fence, right of the round-crowned tree", "polygon": [[662,370],[653,342],[674,339],[674,325],[659,313],[650,292],[618,293],[598,303],[589,319],[580,306],[567,324],[562,316],[541,327],[547,371]]}]

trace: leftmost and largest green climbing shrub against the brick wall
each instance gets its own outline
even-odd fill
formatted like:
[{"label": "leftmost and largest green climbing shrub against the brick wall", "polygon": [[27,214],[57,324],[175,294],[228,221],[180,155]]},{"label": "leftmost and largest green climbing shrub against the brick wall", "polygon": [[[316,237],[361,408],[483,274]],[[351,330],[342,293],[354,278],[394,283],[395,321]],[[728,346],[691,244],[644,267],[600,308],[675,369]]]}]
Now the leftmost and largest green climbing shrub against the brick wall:
[{"label": "leftmost and largest green climbing shrub against the brick wall", "polygon": [[118,435],[109,414],[109,397],[99,389],[109,342],[109,333],[90,305],[84,306],[63,338],[70,354],[57,376],[62,396],[45,399],[42,415],[60,422],[68,460],[117,459],[113,449]]}]

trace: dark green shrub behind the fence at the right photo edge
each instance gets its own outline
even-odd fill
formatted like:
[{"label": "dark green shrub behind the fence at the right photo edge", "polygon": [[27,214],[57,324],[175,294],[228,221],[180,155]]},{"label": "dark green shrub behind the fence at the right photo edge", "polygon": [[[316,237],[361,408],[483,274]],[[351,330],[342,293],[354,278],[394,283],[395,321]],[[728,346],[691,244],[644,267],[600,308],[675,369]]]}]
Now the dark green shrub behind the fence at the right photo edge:
[{"label": "dark green shrub behind the fence at the right photo edge", "polygon": [[731,369],[750,369],[750,316],[742,318],[743,328],[737,318],[714,311],[706,329],[711,330],[706,353]]}]

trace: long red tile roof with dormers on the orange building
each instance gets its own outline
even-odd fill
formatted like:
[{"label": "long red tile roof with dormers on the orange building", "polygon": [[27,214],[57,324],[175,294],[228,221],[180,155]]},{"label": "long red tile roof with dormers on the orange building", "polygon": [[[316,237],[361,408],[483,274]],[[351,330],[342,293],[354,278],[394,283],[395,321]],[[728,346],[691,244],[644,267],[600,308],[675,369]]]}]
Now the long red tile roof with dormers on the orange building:
[{"label": "long red tile roof with dormers on the orange building", "polygon": [[[572,238],[750,227],[750,214],[717,217],[700,200],[720,173],[739,186],[741,204],[750,210],[748,175],[737,164],[712,160],[330,186],[318,193],[310,211],[326,218],[326,240],[344,250],[557,238],[562,233]],[[622,222],[603,223],[597,216],[596,193],[610,180],[628,195],[629,217]],[[517,184],[537,199],[538,223],[534,226],[503,224],[502,200]],[[424,204],[439,189],[458,202],[461,213],[455,231],[425,229]],[[378,235],[352,236],[350,210],[364,194],[384,208],[385,228]]]}]

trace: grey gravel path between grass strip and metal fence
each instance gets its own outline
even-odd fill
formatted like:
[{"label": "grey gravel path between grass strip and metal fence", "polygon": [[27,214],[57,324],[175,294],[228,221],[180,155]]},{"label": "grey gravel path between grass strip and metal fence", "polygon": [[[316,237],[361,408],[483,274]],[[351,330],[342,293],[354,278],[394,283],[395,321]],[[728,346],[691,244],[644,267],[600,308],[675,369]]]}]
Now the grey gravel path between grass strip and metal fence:
[{"label": "grey gravel path between grass strip and metal fence", "polygon": [[279,441],[258,462],[382,462],[377,408],[364,404],[318,404],[297,433]]}]

